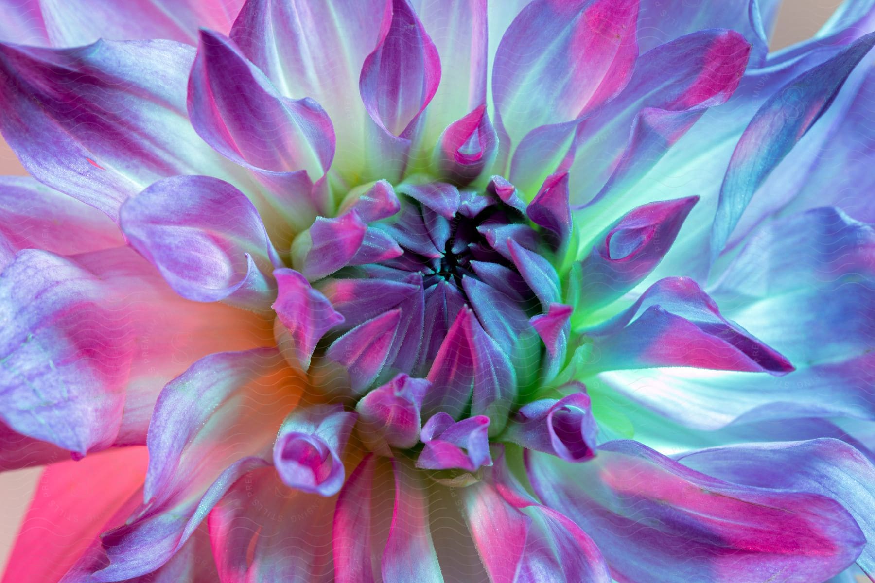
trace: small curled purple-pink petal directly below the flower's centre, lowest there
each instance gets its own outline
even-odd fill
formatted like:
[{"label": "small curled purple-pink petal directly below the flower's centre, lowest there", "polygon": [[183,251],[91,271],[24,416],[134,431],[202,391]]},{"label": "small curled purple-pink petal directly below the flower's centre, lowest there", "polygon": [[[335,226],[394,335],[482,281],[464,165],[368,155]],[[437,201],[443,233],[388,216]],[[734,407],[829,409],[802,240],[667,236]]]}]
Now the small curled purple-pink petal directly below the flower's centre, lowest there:
[{"label": "small curled purple-pink petal directly below the flower's centre, lowest there", "polygon": [[491,466],[488,432],[489,418],[485,415],[454,421],[446,413],[437,413],[423,426],[420,439],[425,447],[416,459],[416,467],[474,472],[481,466]]}]

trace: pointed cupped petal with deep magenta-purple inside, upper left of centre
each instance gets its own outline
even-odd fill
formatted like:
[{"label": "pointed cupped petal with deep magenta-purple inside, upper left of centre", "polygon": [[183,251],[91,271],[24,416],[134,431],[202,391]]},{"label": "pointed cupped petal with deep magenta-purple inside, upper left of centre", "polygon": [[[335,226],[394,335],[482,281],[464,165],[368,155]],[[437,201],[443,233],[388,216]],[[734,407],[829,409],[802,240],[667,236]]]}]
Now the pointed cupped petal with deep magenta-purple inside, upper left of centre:
[{"label": "pointed cupped petal with deep magenta-purple inside, upper left of centre", "polygon": [[298,230],[328,212],[318,190],[290,191],[325,175],[334,156],[334,130],[311,99],[290,100],[224,35],[200,32],[188,84],[195,131],[222,156],[261,175]]}]

